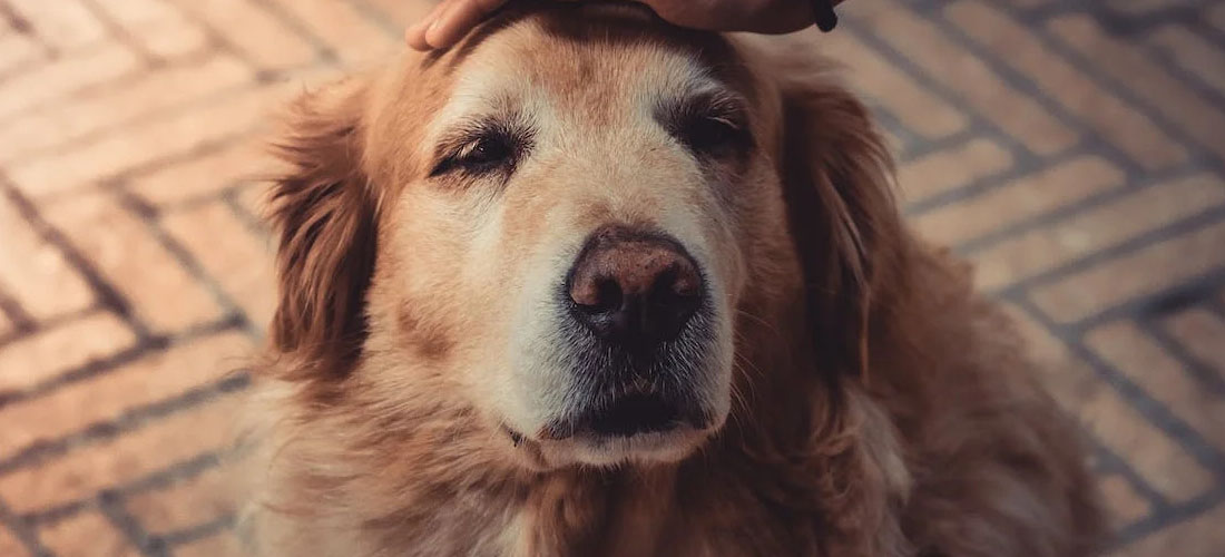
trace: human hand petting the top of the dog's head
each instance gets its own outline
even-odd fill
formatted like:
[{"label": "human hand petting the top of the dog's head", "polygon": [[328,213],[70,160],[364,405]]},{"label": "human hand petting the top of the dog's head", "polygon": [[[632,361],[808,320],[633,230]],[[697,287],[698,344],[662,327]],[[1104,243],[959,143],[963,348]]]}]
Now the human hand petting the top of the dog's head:
[{"label": "human hand petting the top of the dog's head", "polygon": [[[442,0],[430,15],[409,27],[404,38],[417,50],[450,47],[507,1]],[[695,29],[790,33],[813,22],[812,2],[805,0],[642,0],[642,4],[673,24]]]}]

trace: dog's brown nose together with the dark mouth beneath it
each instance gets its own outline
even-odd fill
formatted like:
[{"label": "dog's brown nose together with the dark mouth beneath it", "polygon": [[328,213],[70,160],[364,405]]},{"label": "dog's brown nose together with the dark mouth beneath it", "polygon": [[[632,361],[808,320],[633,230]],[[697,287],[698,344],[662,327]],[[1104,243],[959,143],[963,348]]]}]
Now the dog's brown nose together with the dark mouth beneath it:
[{"label": "dog's brown nose together with the dark mouth beneath it", "polygon": [[712,344],[698,263],[670,236],[626,226],[593,233],[565,282],[572,408],[544,437],[630,437],[710,417],[699,391]]}]

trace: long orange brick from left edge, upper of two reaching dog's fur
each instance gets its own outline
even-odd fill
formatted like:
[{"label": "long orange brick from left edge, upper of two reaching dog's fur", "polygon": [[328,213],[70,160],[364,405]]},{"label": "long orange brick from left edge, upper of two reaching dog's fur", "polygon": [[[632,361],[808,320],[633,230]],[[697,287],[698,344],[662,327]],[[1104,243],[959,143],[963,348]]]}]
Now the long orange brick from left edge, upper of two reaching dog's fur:
[{"label": "long orange brick from left edge, upper of two reaching dog's fur", "polygon": [[238,333],[208,337],[156,351],[45,397],[5,406],[0,409],[0,420],[10,426],[0,430],[0,455],[216,382],[240,366],[250,353],[250,343]]}]

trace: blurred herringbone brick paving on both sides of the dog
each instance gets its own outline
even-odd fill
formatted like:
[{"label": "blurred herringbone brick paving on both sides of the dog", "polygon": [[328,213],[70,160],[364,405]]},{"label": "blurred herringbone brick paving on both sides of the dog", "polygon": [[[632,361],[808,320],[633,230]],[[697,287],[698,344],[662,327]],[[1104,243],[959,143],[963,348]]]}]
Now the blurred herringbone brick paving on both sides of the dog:
[{"label": "blurred herringbone brick paving on both sides of the dog", "polygon": [[[225,555],[260,149],[413,0],[0,0],[0,556]],[[821,50],[1080,416],[1117,556],[1225,555],[1225,1],[850,0]]]}]

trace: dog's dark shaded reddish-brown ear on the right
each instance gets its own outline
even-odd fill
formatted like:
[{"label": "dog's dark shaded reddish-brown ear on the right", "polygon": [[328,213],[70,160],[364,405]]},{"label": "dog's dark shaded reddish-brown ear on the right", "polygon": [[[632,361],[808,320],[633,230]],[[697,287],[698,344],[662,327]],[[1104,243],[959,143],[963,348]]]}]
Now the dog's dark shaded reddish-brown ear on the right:
[{"label": "dog's dark shaded reddish-brown ear on the right", "polygon": [[865,377],[902,237],[893,165],[867,108],[822,69],[783,76],[782,176],[822,361]]}]

